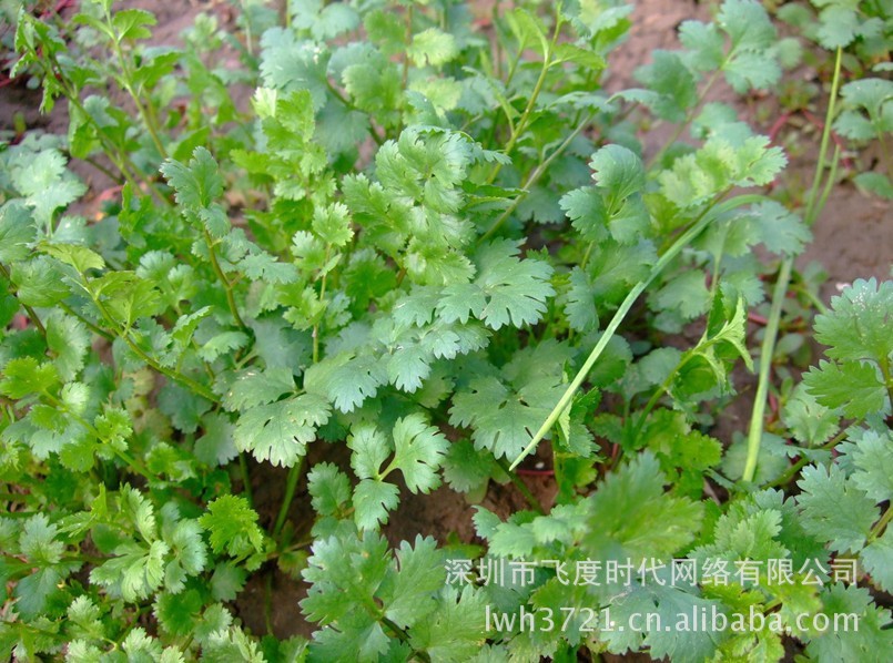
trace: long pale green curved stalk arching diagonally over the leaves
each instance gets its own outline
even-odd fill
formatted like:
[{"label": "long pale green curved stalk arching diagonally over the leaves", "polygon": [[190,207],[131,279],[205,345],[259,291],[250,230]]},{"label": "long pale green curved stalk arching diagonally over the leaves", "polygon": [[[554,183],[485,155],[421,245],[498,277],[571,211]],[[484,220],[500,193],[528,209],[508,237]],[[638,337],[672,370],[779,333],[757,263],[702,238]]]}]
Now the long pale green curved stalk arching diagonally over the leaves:
[{"label": "long pale green curved stalk arching diagonally over the leaves", "polygon": [[758,203],[760,201],[764,201],[764,196],[751,194],[751,195],[742,195],[738,196],[731,201],[728,201],[723,204],[718,204],[722,197],[728,193],[728,191],[722,192],[719,194],[713,203],[711,203],[694,221],[694,223],[679,238],[673,242],[673,244],[667,249],[667,252],[658,258],[658,262],[651,267],[651,272],[649,273],[648,277],[643,280],[637,283],[627,295],[626,299],[620,304],[620,307],[615,313],[611,322],[605,328],[605,332],[601,334],[601,338],[599,338],[596,347],[592,348],[592,351],[587,357],[584,365],[577,371],[577,375],[571,380],[568,388],[565,390],[564,396],[558,401],[549,416],[542,422],[542,426],[539,427],[534,438],[530,440],[530,443],[521,451],[515,461],[509,467],[509,470],[514,470],[518,465],[524,460],[534,449],[536,449],[537,445],[540,440],[546,436],[547,432],[555,426],[555,422],[558,421],[558,418],[561,416],[561,412],[570,406],[571,400],[574,399],[574,395],[582,385],[586,376],[589,375],[589,371],[595,366],[598,358],[601,356],[601,353],[605,351],[605,348],[608,347],[608,343],[610,341],[611,337],[613,336],[615,332],[617,332],[620,323],[623,322],[623,318],[627,317],[627,314],[632,308],[632,305],[636,303],[636,299],[645,292],[645,289],[651,284],[651,282],[657,278],[657,276],[667,267],[670,262],[672,262],[676,256],[678,256],[682,249],[691,244],[691,242],[701,234],[701,232],[710,224],[713,217],[718,214],[723,214],[734,207],[741,205],[749,205],[753,203]]}]

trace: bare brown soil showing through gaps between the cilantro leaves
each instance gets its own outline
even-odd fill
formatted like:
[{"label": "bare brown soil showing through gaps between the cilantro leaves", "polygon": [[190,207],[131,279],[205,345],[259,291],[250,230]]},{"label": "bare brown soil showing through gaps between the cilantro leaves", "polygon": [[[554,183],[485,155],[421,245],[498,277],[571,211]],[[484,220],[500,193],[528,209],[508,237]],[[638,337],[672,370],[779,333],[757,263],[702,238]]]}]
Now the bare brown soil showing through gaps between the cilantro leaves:
[{"label": "bare brown soil showing through gaps between the cilantro leaves", "polygon": [[[212,2],[191,1],[153,1],[129,0],[126,4],[151,10],[158,17],[155,39],[158,43],[176,43],[179,34],[187,28],[194,17],[202,11],[213,11],[222,24],[232,24],[234,17],[229,3],[214,0]],[[64,10],[62,18],[69,18],[72,10]],[[481,12],[484,13],[484,12]],[[607,81],[609,90],[629,84],[632,72],[649,61],[650,53],[657,48],[673,49],[678,47],[677,28],[687,19],[706,20],[710,9],[707,4],[692,0],[641,0],[631,16],[632,29],[629,40],[617,50],[610,59],[611,78]],[[716,99],[731,101],[733,95],[721,86]],[[40,101],[39,91],[29,90],[16,83],[0,88],[0,130],[11,130],[13,118],[21,114],[29,128],[65,133],[67,120],[64,103],[49,116],[37,112]],[[750,115],[747,105],[739,104],[742,114]],[[821,112],[821,110],[820,110]],[[752,115],[751,115],[752,116]],[[771,121],[770,121],[771,124]],[[757,126],[768,132],[768,126]],[[668,128],[654,126],[653,134],[646,136],[649,145],[659,144],[668,134]],[[812,172],[814,151],[806,151],[793,161],[785,177],[799,182],[809,182]],[[101,178],[95,172],[81,173],[88,183],[99,186]],[[101,188],[98,190],[101,191]],[[893,225],[891,225],[890,203],[869,198],[855,187],[844,182],[836,186],[828,201],[824,213],[815,230],[815,241],[800,257],[798,265],[803,267],[810,261],[819,261],[825,268],[829,279],[823,297],[836,290],[838,284],[851,282],[858,277],[874,276],[883,279],[891,275],[893,262]],[[744,391],[747,392],[747,387]],[[750,411],[747,398],[739,399],[725,410],[725,418],[720,421],[714,435],[729,442],[731,432],[744,430]],[[328,460],[347,468],[347,457],[343,446],[312,446],[309,462]],[[548,459],[544,459],[548,462]],[[286,472],[268,465],[252,466],[252,483],[255,506],[261,513],[262,524],[270,526],[276,517],[281,500],[281,491],[285,484]],[[551,506],[555,496],[554,481],[548,476],[525,476],[522,480],[540,500],[546,509]],[[499,486],[493,483],[481,506],[506,517],[509,513],[527,508],[519,491],[510,483]],[[403,491],[399,509],[390,514],[384,529],[385,536],[397,544],[402,540],[414,540],[416,536],[430,536],[445,543],[450,534],[460,541],[476,542],[471,516],[474,506],[464,496],[448,488],[440,488],[427,496],[412,496]],[[290,521],[293,523],[312,522],[312,511],[306,491],[306,481],[298,484],[297,496],[293,502]],[[298,526],[300,527],[300,526]],[[296,532],[300,540],[306,532]],[[479,542],[479,541],[478,541]],[[267,589],[268,585],[268,589]],[[272,603],[267,601],[267,592]],[[306,585],[291,579],[278,571],[273,562],[261,573],[255,573],[235,603],[232,605],[236,616],[254,633],[266,632],[266,619],[275,635],[285,638],[292,634],[309,635],[312,626],[301,615],[297,602],[304,598]],[[611,657],[611,660],[648,660],[647,656]]]}]

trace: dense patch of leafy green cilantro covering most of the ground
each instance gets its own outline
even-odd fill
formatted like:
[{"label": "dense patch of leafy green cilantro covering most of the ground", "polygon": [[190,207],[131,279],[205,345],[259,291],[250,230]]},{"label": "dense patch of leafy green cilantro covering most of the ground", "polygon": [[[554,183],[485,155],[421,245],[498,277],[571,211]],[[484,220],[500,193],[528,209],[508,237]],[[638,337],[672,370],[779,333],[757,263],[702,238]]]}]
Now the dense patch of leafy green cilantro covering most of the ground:
[{"label": "dense patch of leafy green cilantro covering most of the ground", "polygon": [[[12,73],[69,131],[0,152],[0,655],[893,654],[891,282],[822,307],[826,358],[780,417],[763,406],[830,128],[883,139],[881,82],[841,84],[838,51],[801,218],[765,191],[783,151],[710,96],[782,79],[753,0],[684,22],[683,49],[613,94],[620,1],[240,7],[235,31],[202,14],[180,47],[112,0],[64,24],[18,14]],[[658,123],[663,144],[639,131]],[[89,220],[99,192],[75,170],[110,185]],[[769,286],[749,436],[721,440]],[[535,452],[549,502],[518,472]],[[392,541],[436,490],[528,508],[478,503],[470,541]],[[672,560],[758,571],[680,579]],[[491,582],[507,562],[529,578]],[[564,574],[611,562],[626,579]],[[277,602],[278,574],[300,604]],[[258,581],[266,633],[239,619]],[[274,604],[312,635],[274,632]],[[520,611],[564,624],[503,619]],[[698,611],[763,621],[668,626]]]}]

